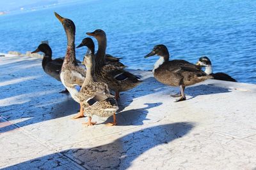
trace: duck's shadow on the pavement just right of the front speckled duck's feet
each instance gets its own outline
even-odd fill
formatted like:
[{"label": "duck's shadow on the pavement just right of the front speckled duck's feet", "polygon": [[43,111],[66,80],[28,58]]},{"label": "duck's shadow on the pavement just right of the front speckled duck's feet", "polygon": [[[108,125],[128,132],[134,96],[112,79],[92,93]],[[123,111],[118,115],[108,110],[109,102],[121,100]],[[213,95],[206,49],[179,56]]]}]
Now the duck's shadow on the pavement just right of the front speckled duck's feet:
[{"label": "duck's shadow on the pavement just right of the front speckled duck's feet", "polygon": [[[148,109],[160,106],[163,103],[144,103],[147,105],[144,108],[132,109],[121,111],[116,114],[117,125],[143,125],[144,121],[150,119],[146,118]],[[113,122],[113,117],[109,117],[106,121],[101,124],[107,124],[108,122]]]}]

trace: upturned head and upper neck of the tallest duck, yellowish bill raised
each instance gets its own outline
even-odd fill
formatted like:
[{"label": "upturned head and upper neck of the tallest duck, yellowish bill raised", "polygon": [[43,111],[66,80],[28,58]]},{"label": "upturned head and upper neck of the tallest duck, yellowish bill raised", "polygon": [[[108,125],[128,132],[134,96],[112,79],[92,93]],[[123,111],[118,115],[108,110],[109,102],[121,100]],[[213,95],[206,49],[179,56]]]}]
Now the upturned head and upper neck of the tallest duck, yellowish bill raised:
[{"label": "upturned head and upper neck of the tallest duck, yellowish bill raised", "polygon": [[68,18],[61,17],[58,13],[54,12],[55,17],[60,20],[65,32],[67,34],[68,43],[74,43],[75,34],[76,34],[76,26],[74,22]]}]

